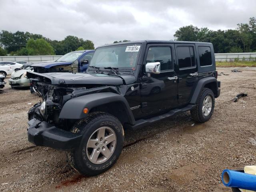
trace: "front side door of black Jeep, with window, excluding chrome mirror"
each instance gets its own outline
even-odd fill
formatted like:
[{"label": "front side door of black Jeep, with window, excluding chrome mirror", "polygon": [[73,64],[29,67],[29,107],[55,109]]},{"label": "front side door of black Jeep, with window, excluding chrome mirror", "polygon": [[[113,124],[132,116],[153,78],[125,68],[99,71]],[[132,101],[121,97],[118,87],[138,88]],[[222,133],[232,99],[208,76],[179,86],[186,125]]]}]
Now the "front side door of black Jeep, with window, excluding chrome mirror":
[{"label": "front side door of black Jeep, with window, excluding chrome mirror", "polygon": [[[141,110],[144,114],[168,110],[177,106],[177,80],[174,71],[174,44],[149,44],[146,63],[160,62],[160,74],[146,74],[141,79]],[[145,68],[145,67],[144,67]]]}]

